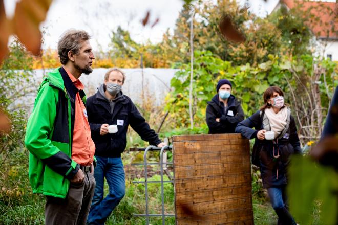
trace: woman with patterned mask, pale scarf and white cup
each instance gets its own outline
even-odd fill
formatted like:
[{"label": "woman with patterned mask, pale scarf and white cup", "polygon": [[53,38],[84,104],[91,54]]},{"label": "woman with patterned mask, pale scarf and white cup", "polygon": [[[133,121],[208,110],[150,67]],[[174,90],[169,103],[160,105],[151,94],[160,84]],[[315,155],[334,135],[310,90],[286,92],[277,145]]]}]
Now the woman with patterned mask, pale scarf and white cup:
[{"label": "woman with patterned mask, pale scarf and white cup", "polygon": [[[278,224],[296,224],[288,211],[285,192],[290,156],[302,153],[297,128],[290,109],[284,104],[281,88],[267,88],[263,98],[264,105],[240,122],[236,132],[247,139],[256,139],[252,163],[260,167],[263,187],[267,188],[271,205],[278,215]],[[271,140],[267,140],[268,131]]]}]

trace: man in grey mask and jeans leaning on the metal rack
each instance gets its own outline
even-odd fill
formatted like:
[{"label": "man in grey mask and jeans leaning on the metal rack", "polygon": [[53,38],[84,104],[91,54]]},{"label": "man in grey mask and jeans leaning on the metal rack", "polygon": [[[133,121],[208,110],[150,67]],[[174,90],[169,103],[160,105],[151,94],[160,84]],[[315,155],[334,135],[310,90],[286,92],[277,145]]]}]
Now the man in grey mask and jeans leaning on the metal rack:
[{"label": "man in grey mask and jeans leaning on the metal rack", "polygon": [[[151,145],[163,147],[154,130],[141,116],[132,100],[123,95],[125,76],[117,68],[108,70],[95,95],[87,100],[88,121],[96,146],[97,165],[94,177],[96,188],[88,216],[88,224],[104,224],[125,193],[121,153],[126,146],[126,133],[131,127]],[[116,133],[109,133],[109,125],[117,125]],[[109,194],[103,199],[104,177]]]}]

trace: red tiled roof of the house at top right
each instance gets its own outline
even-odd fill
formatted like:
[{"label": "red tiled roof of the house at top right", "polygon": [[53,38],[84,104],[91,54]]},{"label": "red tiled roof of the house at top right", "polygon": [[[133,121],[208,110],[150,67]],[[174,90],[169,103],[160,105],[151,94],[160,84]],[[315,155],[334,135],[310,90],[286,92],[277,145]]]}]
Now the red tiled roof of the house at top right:
[{"label": "red tiled roof of the house at top right", "polygon": [[[301,1],[301,0],[281,0],[289,9],[294,8],[297,4],[302,4],[304,10],[311,7],[311,13],[315,17],[320,18],[320,21],[310,21],[308,26],[312,30],[315,36],[322,38],[338,38],[338,3],[334,2],[319,2],[319,1]],[[333,13],[330,15],[329,11]],[[334,32],[331,28],[334,23]],[[327,33],[329,31],[329,33]]]}]

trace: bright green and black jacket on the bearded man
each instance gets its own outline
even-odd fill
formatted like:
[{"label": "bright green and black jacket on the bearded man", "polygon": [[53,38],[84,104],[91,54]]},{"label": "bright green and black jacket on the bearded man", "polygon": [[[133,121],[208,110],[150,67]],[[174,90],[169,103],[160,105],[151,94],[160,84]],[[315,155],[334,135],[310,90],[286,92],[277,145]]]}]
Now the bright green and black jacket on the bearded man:
[{"label": "bright green and black jacket on the bearded man", "polygon": [[25,137],[33,193],[65,198],[79,169],[71,159],[77,92],[86,104],[85,93],[62,67],[50,72],[38,89]]}]

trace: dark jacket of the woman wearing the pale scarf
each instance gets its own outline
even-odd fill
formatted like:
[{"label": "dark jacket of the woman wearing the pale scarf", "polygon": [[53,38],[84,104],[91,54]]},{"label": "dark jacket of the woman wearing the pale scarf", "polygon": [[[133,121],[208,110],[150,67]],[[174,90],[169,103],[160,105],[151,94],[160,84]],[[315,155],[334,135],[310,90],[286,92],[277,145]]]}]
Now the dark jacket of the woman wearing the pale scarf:
[{"label": "dark jacket of the woman wearing the pale scarf", "polygon": [[[284,136],[274,144],[271,140],[259,140],[257,132],[263,129],[263,114],[257,111],[251,117],[240,122],[236,127],[236,132],[241,133],[247,139],[255,138],[252,154],[259,154],[259,166],[263,180],[263,187],[279,187],[287,183],[286,169],[289,164],[290,156],[294,153],[302,153],[300,141],[297,134],[297,128],[292,116],[290,116],[290,125]],[[252,129],[255,127],[255,129]],[[255,149],[256,148],[256,149]],[[279,149],[280,157],[273,157],[273,148],[275,153]],[[254,156],[254,155],[252,155]]]}]

